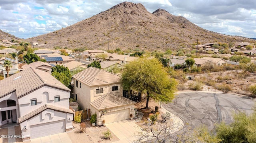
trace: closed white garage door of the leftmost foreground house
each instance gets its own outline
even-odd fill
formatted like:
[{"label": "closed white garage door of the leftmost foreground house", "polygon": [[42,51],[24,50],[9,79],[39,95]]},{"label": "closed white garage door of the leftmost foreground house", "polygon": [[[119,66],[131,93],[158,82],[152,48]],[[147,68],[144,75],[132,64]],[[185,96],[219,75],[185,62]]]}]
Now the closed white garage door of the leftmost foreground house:
[{"label": "closed white garage door of the leftmost foreground house", "polygon": [[34,139],[37,137],[62,133],[66,130],[65,126],[65,120],[52,121],[38,125],[30,125],[30,137],[31,139]]}]

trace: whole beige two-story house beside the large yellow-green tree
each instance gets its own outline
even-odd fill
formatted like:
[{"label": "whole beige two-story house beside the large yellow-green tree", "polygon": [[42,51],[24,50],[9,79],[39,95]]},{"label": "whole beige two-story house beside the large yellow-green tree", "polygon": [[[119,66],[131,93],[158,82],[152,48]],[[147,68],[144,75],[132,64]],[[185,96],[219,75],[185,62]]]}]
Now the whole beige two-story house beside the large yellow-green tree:
[{"label": "whole beige two-story house beside the large yellow-green tree", "polygon": [[89,67],[73,76],[74,98],[83,109],[97,114],[97,124],[112,123],[129,119],[134,115],[136,102],[123,97],[120,76],[111,72]]}]

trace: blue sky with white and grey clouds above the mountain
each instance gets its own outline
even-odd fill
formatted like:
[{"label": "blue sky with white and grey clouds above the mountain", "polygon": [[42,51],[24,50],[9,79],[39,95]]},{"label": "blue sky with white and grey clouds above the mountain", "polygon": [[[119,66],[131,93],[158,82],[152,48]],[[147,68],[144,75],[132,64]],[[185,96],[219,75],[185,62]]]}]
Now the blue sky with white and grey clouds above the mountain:
[{"label": "blue sky with white and grey clouds above the mountain", "polygon": [[[126,0],[158,8],[210,31],[256,37],[256,0]],[[0,29],[19,38],[50,33],[108,10],[122,0],[0,0]]]}]

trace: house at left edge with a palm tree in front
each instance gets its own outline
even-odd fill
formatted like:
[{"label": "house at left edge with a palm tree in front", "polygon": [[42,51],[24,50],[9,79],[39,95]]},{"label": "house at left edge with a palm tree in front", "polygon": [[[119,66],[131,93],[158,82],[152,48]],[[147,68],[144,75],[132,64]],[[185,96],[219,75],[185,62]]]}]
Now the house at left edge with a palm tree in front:
[{"label": "house at left edge with a palm tree in front", "polygon": [[0,59],[0,74],[3,74],[4,75],[4,78],[7,77],[7,72],[5,70],[5,67],[4,66],[4,62],[8,60],[12,63],[12,67],[9,71],[9,75],[12,75],[12,74],[15,74],[17,72],[19,72],[19,69],[18,69],[18,57],[15,57],[15,60],[14,59],[10,59],[10,58],[6,58],[6,57],[2,57]]}]

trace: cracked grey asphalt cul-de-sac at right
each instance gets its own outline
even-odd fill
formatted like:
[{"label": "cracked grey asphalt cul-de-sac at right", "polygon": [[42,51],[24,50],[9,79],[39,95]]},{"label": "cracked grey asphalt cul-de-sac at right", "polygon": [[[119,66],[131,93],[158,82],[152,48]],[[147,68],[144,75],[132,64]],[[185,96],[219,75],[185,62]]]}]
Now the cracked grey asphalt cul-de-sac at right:
[{"label": "cracked grey asphalt cul-de-sac at right", "polygon": [[192,92],[178,94],[163,106],[193,129],[201,125],[213,129],[221,121],[230,124],[234,112],[252,113],[255,103],[256,99],[233,94]]}]

